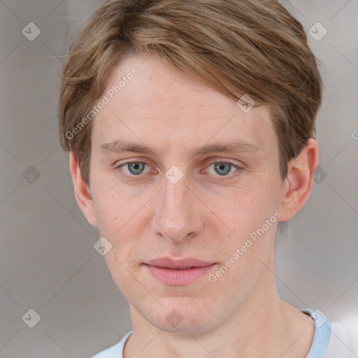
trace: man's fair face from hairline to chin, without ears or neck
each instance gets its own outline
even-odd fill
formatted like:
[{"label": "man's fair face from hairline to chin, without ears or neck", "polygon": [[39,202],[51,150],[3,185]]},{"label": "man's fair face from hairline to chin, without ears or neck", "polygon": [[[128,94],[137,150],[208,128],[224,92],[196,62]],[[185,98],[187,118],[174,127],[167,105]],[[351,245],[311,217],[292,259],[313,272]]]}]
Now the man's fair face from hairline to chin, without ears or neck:
[{"label": "man's fair face from hairline to chin, without ears or neck", "polygon": [[87,218],[112,245],[108,268],[138,314],[165,331],[205,331],[273,283],[262,261],[273,259],[280,217],[278,142],[268,107],[244,111],[144,59],[115,67],[94,118]]}]

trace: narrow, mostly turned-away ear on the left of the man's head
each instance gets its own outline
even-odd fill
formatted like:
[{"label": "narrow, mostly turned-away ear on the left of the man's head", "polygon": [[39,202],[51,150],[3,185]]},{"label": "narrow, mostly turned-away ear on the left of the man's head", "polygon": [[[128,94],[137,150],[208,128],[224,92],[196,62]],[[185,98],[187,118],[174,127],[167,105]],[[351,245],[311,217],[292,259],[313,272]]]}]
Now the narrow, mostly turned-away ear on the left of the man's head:
[{"label": "narrow, mostly turned-away ear on the left of the man's head", "polygon": [[73,187],[75,189],[76,201],[79,208],[82,210],[86,219],[92,226],[97,227],[96,214],[94,211],[93,199],[90,188],[82,178],[80,166],[77,163],[76,156],[73,152],[69,154],[70,171],[73,180]]}]

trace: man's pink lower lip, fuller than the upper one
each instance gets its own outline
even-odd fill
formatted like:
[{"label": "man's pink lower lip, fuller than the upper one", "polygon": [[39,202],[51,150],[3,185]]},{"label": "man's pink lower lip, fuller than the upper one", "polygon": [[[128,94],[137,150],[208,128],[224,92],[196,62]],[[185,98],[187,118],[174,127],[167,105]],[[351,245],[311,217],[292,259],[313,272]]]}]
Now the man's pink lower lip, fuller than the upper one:
[{"label": "man's pink lower lip, fuller than the upper one", "polygon": [[203,267],[193,267],[188,270],[176,270],[173,268],[145,265],[149,272],[164,285],[183,286],[189,285],[213,268],[215,264]]}]

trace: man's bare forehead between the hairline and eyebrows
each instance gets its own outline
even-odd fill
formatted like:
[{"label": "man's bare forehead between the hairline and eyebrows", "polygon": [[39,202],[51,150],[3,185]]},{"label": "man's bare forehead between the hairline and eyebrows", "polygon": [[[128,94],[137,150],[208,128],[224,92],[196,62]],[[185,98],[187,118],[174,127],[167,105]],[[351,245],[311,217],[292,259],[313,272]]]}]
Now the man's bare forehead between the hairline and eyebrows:
[{"label": "man's bare forehead between the hairline and eyebrows", "polygon": [[94,120],[95,150],[128,136],[137,144],[143,139],[160,146],[163,152],[216,141],[252,143],[263,152],[275,146],[266,106],[244,113],[236,101],[152,57],[122,60],[110,73],[103,95],[109,101]]}]

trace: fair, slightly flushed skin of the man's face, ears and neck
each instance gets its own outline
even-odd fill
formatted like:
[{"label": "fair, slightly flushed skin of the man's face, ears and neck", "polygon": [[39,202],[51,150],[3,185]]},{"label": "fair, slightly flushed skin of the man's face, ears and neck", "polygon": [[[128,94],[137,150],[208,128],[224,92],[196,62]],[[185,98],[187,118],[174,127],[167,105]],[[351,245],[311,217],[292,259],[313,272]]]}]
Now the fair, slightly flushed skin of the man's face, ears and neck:
[{"label": "fair, slightly flushed skin of the man's face, ears and neck", "polygon": [[[308,139],[282,181],[267,106],[244,113],[227,96],[141,55],[115,66],[106,91],[133,67],[138,74],[94,119],[90,187],[70,153],[78,206],[113,245],[106,262],[129,301],[134,334],[124,358],[306,357],[314,326],[275,292],[277,222],[215,283],[203,275],[190,285],[164,285],[143,262],[195,257],[217,263],[215,273],[275,211],[284,222],[303,207],[317,141]],[[101,152],[102,143],[117,139],[145,143],[152,154]],[[259,150],[194,157],[185,151],[222,141]],[[128,165],[115,169],[130,160],[147,166],[137,176]],[[214,161],[243,169],[229,166],[222,176]],[[165,176],[173,165],[184,175],[175,185]],[[166,321],[173,309],[182,316],[177,327]]]}]

